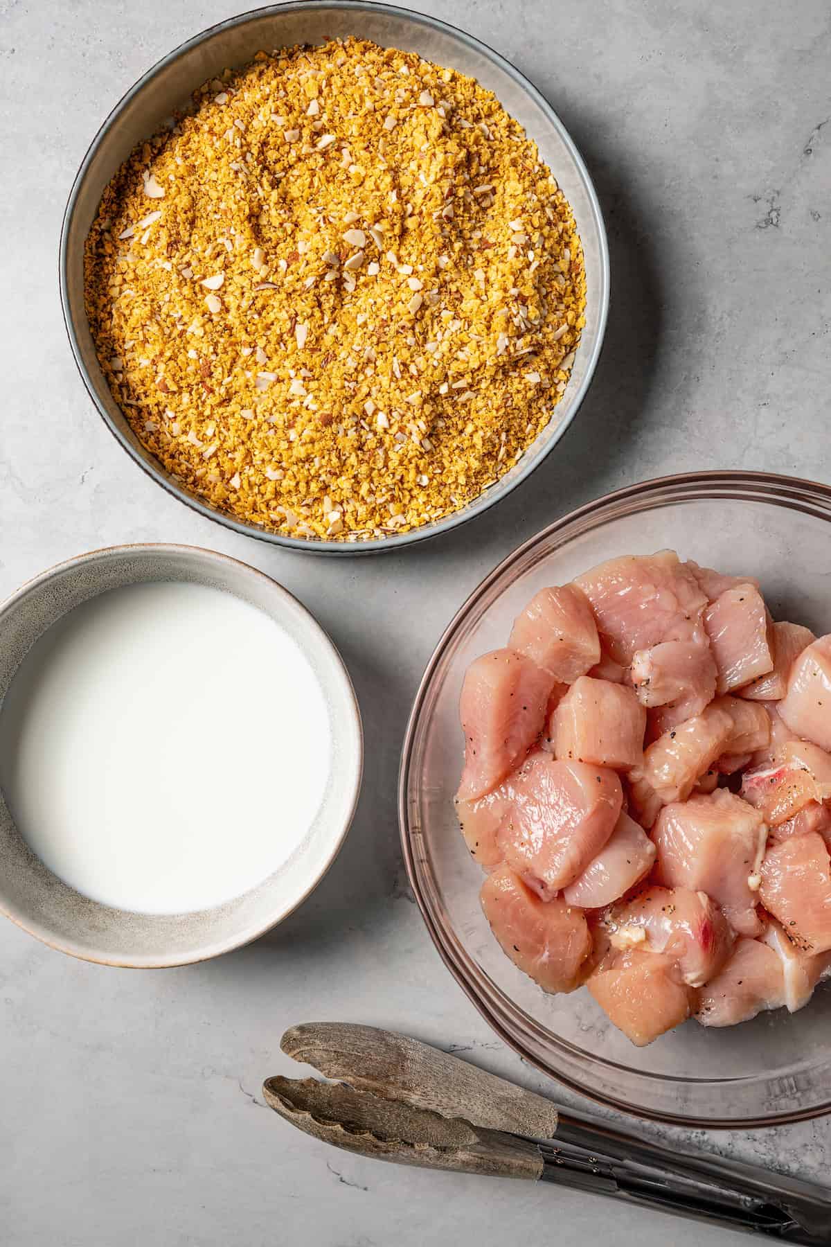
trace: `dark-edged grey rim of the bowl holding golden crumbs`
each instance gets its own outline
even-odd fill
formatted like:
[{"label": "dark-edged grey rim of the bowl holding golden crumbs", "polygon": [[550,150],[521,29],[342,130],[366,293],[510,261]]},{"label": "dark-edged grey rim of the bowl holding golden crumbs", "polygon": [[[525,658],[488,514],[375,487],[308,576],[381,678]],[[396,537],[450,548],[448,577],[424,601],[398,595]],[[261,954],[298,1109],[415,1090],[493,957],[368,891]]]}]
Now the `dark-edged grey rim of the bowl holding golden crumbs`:
[{"label": "dark-edged grey rim of the bowl holding golden crumbs", "polygon": [[[335,9],[345,12],[381,12],[395,17],[402,17],[417,26],[426,26],[432,30],[441,31],[462,44],[465,44],[472,51],[478,52],[487,60],[492,61],[498,69],[513,79],[513,81],[526,92],[527,96],[542,110],[547,116],[547,120],[554,127],[559,135],[561,141],[569,152],[574,166],[578,171],[579,178],[583,183],[588,202],[589,212],[597,229],[598,244],[599,244],[599,272],[598,272],[598,299],[597,299],[597,337],[593,343],[592,350],[588,355],[586,363],[586,373],[579,387],[574,392],[572,405],[567,415],[554,425],[552,430],[551,439],[542,454],[536,458],[529,458],[527,464],[523,464],[517,476],[512,480],[511,486],[501,494],[492,494],[491,491],[485,491],[480,494],[475,501],[468,504],[461,511],[453,511],[451,515],[445,516],[435,525],[422,525],[421,527],[412,529],[410,532],[402,532],[399,535],[386,536],[386,537],[374,537],[369,541],[328,541],[325,539],[310,540],[305,537],[292,537],[283,535],[280,532],[272,532],[267,529],[259,529],[253,524],[244,524],[242,520],[234,519],[232,515],[226,515],[223,511],[214,510],[208,506],[196,495],[189,494],[187,490],[182,489],[174,480],[172,480],[163,470],[161,465],[157,466],[154,460],[146,459],[138,449],[132,444],[130,438],[123,433],[113,421],[112,416],[107,412],[106,407],[100,402],[96,393],[95,385],[92,384],[91,377],[83,362],[81,353],[81,347],[78,342],[78,335],[75,327],[75,319],[71,313],[70,297],[69,297],[69,234],[75,217],[75,209],[77,201],[86,180],[88,168],[98,152],[98,148],[113,125],[117,122],[118,117],[126,108],[126,106],[140,95],[147,86],[151,85],[153,79],[164,70],[168,65],[173,64],[182,55],[188,52],[191,49],[199,46],[207,40],[212,39],[214,35],[224,30],[234,29],[235,26],[247,25],[259,17],[269,16],[272,14],[279,15],[280,12],[302,12],[304,10],[320,9]],[[608,236],[605,229],[605,222],[603,218],[603,212],[601,203],[594,188],[594,182],[586,166],[586,162],[571,137],[568,130],[561,121],[558,113],[554,111],[552,105],[546,100],[541,91],[517,70],[506,57],[503,57],[495,49],[490,47],[487,44],[476,39],[473,35],[467,34],[467,31],[461,27],[453,26],[451,22],[441,21],[439,17],[432,17],[427,14],[417,12],[414,9],[406,9],[399,5],[380,4],[376,0],[285,0],[283,4],[264,5],[260,9],[250,9],[247,12],[238,14],[234,17],[229,17],[226,21],[216,22],[213,26],[208,26],[193,35],[191,39],[184,40],[166,56],[162,56],[156,61],[140,79],[133,82],[133,85],[122,95],[118,102],[110,110],[101,126],[96,131],[87,151],[81,161],[77,173],[72,181],[70,188],[69,198],[66,202],[66,208],[64,209],[64,217],[61,221],[61,236],[60,236],[60,248],[59,248],[59,286],[60,286],[60,298],[61,298],[61,313],[64,317],[64,327],[66,329],[66,335],[70,342],[70,348],[72,352],[72,358],[75,359],[75,365],[78,370],[83,387],[92,399],[92,403],[98,412],[98,415],[103,420],[106,428],[110,430],[116,441],[121,445],[123,450],[127,451],[133,463],[145,471],[151,480],[161,485],[171,496],[178,499],[191,510],[197,511],[199,515],[213,521],[214,524],[221,524],[223,527],[229,529],[233,532],[239,532],[242,536],[254,537],[258,541],[264,541],[268,545],[274,545],[287,550],[295,550],[303,554],[316,554],[316,555],[334,555],[334,556],[354,556],[354,555],[369,555],[369,554],[381,554],[387,550],[400,550],[402,546],[416,545],[420,541],[427,541],[432,537],[440,536],[444,532],[449,532],[452,529],[460,527],[462,524],[467,524],[470,520],[476,519],[483,511],[501,503],[505,498],[513,493],[525,480],[527,480],[537,468],[542,465],[548,455],[558,444],[561,438],[571,428],[577,413],[579,412],[586,395],[588,393],[589,385],[593,380],[594,372],[597,369],[598,360],[603,349],[603,340],[605,337],[608,312],[609,312],[609,287],[610,287],[610,266],[609,266],[609,246]]]}]

